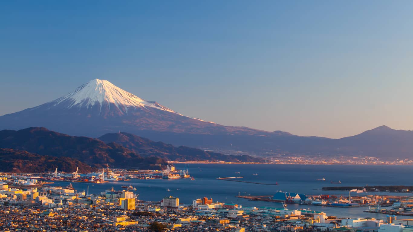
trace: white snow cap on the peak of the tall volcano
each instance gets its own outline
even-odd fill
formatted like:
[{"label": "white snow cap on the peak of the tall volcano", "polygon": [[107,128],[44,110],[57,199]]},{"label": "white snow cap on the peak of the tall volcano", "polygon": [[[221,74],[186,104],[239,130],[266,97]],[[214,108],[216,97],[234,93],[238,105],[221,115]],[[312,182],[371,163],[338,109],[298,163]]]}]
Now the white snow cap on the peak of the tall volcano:
[{"label": "white snow cap on the peak of the tall volcano", "polygon": [[[157,102],[149,102],[127,92],[107,80],[94,79],[78,87],[68,95],[53,101],[54,105],[65,103],[67,108],[93,107],[95,104],[114,104],[127,114],[129,107],[152,107],[163,111],[179,114]],[[179,114],[181,115],[181,114]]]}]

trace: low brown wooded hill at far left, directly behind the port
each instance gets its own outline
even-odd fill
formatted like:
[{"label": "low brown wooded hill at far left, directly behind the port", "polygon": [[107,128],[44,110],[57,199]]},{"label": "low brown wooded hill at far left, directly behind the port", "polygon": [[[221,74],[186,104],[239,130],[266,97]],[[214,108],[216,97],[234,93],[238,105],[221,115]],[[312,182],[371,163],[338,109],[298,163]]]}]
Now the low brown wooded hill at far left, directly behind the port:
[{"label": "low brown wooded hill at far left, directly behind the port", "polygon": [[0,170],[13,173],[51,172],[56,168],[63,172],[92,172],[96,168],[69,157],[53,157],[26,151],[0,148]]}]

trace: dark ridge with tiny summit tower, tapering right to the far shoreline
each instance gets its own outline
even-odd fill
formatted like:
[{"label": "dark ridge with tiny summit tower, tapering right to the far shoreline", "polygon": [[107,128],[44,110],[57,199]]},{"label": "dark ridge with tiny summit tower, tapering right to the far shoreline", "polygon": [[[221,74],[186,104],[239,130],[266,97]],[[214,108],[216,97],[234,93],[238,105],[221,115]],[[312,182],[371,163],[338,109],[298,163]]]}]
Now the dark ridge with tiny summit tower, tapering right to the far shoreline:
[{"label": "dark ridge with tiny summit tower, tapering right to the far shoreline", "polygon": [[247,155],[224,155],[215,152],[207,152],[201,149],[185,146],[174,147],[164,142],[154,142],[130,133],[108,133],[98,138],[106,143],[116,142],[142,156],[157,156],[173,161],[226,161],[226,162],[260,162],[265,160]]}]

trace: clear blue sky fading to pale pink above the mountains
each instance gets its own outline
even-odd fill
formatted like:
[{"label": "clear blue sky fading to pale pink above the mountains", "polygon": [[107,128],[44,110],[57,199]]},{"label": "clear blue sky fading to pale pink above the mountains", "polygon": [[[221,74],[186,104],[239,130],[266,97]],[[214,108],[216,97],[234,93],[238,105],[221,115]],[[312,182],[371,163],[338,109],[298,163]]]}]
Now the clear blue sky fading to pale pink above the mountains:
[{"label": "clear blue sky fading to pale pink above the mountains", "polygon": [[413,1],[1,1],[0,115],[100,78],[223,125],[413,129]]}]

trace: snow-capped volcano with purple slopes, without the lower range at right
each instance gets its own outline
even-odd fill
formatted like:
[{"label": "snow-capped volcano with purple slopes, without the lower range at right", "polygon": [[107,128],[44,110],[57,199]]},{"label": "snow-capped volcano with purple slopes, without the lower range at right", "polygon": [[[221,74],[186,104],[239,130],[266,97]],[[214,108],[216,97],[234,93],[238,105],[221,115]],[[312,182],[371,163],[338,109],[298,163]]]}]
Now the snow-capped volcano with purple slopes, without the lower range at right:
[{"label": "snow-capped volcano with purple slopes, without the lower range at right", "polygon": [[69,135],[89,137],[123,131],[178,145],[184,143],[180,139],[170,141],[165,138],[177,133],[184,133],[185,137],[191,134],[269,134],[183,116],[157,102],[144,100],[107,80],[99,79],[90,80],[51,102],[0,116],[0,129],[19,130],[28,127],[45,127]]}]

